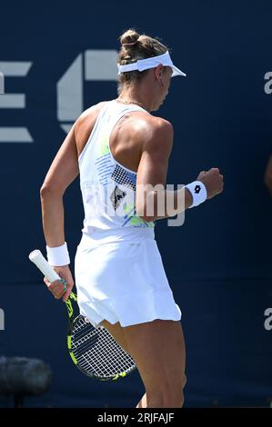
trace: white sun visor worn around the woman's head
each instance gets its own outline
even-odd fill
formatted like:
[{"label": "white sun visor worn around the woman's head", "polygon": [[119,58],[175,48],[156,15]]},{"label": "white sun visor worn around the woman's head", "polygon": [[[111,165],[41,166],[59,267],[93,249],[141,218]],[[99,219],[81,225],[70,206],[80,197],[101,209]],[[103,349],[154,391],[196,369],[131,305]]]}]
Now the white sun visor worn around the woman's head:
[{"label": "white sun visor worn around the woman's head", "polygon": [[138,59],[136,61],[136,63],[127,64],[127,65],[119,65],[119,64],[117,64],[118,75],[121,74],[121,73],[126,73],[127,71],[134,71],[134,70],[144,71],[144,70],[148,70],[149,68],[155,68],[157,65],[160,65],[160,64],[164,65],[164,66],[170,66],[172,68],[173,73],[172,73],[171,77],[175,77],[175,75],[184,75],[184,76],[186,76],[185,73],[183,73],[179,68],[177,68],[173,64],[168,51],[166,51],[166,53],[163,54],[163,55],[153,56],[152,58]]}]

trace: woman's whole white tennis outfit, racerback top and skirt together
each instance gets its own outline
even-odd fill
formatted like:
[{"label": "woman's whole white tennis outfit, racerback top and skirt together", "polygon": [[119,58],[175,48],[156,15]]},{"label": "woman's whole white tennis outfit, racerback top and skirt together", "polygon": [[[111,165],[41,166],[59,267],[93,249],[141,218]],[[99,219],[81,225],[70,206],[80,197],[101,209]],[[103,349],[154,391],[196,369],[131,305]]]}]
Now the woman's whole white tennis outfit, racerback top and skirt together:
[{"label": "woman's whole white tennis outfit, racerback top and skirt together", "polygon": [[136,216],[136,173],[116,162],[109,137],[120,118],[145,111],[107,102],[79,155],[85,219],[75,279],[80,313],[97,326],[180,320],[155,240],[155,223]]}]

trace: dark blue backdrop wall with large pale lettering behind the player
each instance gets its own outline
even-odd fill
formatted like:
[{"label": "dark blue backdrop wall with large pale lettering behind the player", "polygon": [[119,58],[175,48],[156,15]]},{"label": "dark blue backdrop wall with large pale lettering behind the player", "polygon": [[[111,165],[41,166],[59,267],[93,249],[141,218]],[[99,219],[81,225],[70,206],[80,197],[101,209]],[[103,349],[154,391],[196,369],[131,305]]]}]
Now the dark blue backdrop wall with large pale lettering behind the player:
[{"label": "dark blue backdrop wall with large pale lettering behind the player", "polygon": [[[167,182],[193,181],[210,167],[225,176],[224,193],[187,211],[183,226],[156,225],[183,311],[186,406],[268,405],[272,200],[263,174],[272,144],[271,2],[5,2],[0,15],[0,355],[41,358],[54,372],[50,391],[26,404],[126,407],[143,392],[137,372],[108,383],[74,368],[65,306],[28,261],[35,248],[45,253],[39,188],[46,171],[81,111],[116,97],[118,36],[135,27],[169,45],[187,74],[173,79],[155,113],[175,128]],[[82,221],[76,180],[65,193],[72,258]]]}]

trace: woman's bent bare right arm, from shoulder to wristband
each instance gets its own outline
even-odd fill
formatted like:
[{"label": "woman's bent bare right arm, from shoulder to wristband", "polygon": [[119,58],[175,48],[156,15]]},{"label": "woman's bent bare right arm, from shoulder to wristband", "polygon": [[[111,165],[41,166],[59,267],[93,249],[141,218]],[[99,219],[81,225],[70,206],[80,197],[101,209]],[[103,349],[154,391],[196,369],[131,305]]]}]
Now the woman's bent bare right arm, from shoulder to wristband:
[{"label": "woman's bent bare right arm, from shoulder to wristband", "polygon": [[[165,188],[166,175],[168,168],[168,160],[171,154],[173,145],[173,126],[163,119],[157,121],[156,126],[153,126],[146,133],[148,136],[143,146],[143,152],[137,171],[136,182],[136,212],[139,217],[145,221],[154,221],[156,219],[168,218],[166,213],[166,193],[162,194],[159,191],[152,190],[146,192],[148,184],[155,187],[161,184]],[[185,203],[184,209],[192,204],[192,195],[187,189],[183,190]],[[174,207],[177,207],[177,191],[174,194]],[[163,197],[164,212],[163,215],[158,215],[158,195]],[[153,203],[154,200],[154,203]],[[148,214],[147,204],[152,201],[154,206],[154,214]]]}]

